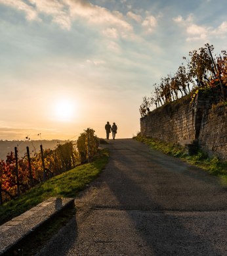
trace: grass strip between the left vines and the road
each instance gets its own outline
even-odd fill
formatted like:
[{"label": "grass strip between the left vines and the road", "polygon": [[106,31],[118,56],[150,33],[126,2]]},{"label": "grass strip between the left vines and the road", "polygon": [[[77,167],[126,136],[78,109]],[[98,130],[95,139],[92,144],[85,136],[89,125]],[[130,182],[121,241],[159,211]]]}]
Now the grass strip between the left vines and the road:
[{"label": "grass strip between the left vines and the road", "polygon": [[20,197],[0,206],[0,224],[14,218],[49,197],[75,197],[94,180],[108,162],[107,149],[98,152],[93,163],[77,166],[68,172],[54,176],[47,182],[31,188]]}]

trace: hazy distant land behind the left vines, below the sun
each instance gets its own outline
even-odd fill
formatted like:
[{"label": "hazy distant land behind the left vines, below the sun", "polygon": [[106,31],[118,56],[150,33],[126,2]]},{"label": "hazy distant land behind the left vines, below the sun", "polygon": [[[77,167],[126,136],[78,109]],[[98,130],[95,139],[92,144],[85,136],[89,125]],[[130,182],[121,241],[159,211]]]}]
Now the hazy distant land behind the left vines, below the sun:
[{"label": "hazy distant land behind the left vines, below the sun", "polygon": [[[43,140],[42,145],[43,149],[53,149],[56,147],[57,143],[63,144],[65,140]],[[6,160],[7,154],[10,151],[14,152],[14,147],[18,147],[18,156],[23,157],[24,154],[27,152],[26,147],[28,146],[30,149],[30,154],[33,156],[35,151],[40,151],[40,140],[34,141],[10,141],[10,140],[0,140],[0,159]]]}]

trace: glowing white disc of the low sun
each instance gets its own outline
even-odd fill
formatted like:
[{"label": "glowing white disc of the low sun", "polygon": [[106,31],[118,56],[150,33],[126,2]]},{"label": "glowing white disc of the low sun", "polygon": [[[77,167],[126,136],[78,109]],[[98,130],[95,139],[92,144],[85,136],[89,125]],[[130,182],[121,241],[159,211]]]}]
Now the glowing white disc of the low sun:
[{"label": "glowing white disc of the low sun", "polygon": [[73,120],[75,115],[75,103],[69,99],[61,99],[56,102],[55,117],[62,122]]}]

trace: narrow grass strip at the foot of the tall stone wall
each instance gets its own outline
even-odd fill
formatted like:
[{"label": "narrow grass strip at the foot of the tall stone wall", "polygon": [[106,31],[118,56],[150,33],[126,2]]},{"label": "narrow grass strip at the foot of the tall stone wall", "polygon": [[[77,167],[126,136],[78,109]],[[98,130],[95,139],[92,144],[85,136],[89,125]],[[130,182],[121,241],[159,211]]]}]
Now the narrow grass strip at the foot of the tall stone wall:
[{"label": "narrow grass strip at the foot of the tall stone wall", "polygon": [[227,184],[227,162],[220,161],[217,157],[208,157],[203,151],[199,150],[196,155],[189,155],[188,151],[176,143],[167,143],[154,138],[144,138],[138,134],[134,140],[141,141],[149,145],[152,149],[161,151],[167,155],[178,157],[190,165],[198,166],[207,170],[210,174],[220,176],[222,182]]}]

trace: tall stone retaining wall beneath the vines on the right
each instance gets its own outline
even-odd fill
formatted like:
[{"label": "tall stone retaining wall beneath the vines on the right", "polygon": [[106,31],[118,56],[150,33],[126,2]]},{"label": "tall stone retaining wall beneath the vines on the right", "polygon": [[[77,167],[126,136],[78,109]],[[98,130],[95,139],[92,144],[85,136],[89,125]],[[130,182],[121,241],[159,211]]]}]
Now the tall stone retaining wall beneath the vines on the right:
[{"label": "tall stone retaining wall beneath the vines on the right", "polygon": [[194,103],[185,97],[140,118],[142,136],[180,143],[199,143],[210,156],[227,160],[227,107],[212,107],[215,94],[199,92]]}]

